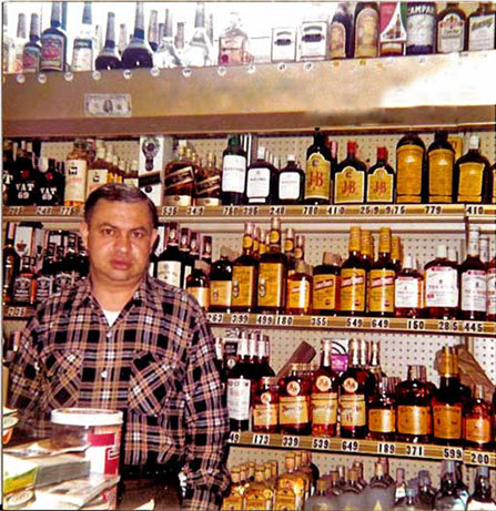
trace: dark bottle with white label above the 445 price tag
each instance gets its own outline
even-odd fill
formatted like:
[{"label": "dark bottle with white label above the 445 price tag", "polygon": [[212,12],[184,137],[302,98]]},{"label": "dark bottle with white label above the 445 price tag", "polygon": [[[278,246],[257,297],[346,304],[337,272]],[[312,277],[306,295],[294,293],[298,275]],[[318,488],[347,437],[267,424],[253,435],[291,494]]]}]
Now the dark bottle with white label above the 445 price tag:
[{"label": "dark bottle with white label above the 445 price tag", "polygon": [[487,307],[486,266],[479,259],[479,227],[468,231],[467,258],[458,266],[459,318],[484,321]]}]

